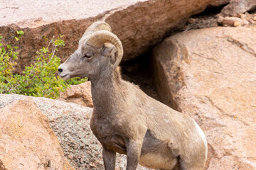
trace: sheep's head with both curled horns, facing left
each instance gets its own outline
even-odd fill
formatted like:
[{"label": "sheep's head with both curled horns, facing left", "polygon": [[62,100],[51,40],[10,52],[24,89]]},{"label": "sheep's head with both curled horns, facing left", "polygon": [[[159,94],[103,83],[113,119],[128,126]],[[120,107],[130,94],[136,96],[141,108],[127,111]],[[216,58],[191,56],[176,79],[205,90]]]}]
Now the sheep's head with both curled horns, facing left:
[{"label": "sheep's head with both curled horns, facing left", "polygon": [[114,69],[122,60],[122,43],[105,22],[93,23],[79,41],[78,50],[58,67],[65,80],[73,77],[92,79],[101,72]]}]

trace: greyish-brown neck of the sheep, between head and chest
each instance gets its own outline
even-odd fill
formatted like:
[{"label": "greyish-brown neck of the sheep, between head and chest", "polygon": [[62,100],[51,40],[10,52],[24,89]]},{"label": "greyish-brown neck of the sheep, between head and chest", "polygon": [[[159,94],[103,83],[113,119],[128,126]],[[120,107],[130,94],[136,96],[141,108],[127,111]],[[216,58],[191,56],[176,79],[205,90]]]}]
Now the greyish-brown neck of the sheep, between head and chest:
[{"label": "greyish-brown neck of the sheep, between head and chest", "polygon": [[122,78],[119,69],[110,74],[102,74],[99,79],[92,79],[92,101],[95,110],[101,113],[108,112],[118,100],[119,87],[122,86]]}]

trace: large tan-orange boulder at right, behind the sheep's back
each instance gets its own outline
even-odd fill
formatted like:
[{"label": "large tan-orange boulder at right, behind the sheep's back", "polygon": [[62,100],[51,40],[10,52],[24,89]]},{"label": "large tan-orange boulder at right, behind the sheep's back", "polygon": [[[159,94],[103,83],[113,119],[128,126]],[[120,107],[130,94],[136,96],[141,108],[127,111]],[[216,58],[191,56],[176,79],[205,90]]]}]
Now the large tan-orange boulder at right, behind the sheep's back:
[{"label": "large tan-orange boulder at right, behind the sheep's back", "polygon": [[256,28],[205,28],[153,50],[156,89],[205,132],[208,170],[256,169],[255,40]]}]

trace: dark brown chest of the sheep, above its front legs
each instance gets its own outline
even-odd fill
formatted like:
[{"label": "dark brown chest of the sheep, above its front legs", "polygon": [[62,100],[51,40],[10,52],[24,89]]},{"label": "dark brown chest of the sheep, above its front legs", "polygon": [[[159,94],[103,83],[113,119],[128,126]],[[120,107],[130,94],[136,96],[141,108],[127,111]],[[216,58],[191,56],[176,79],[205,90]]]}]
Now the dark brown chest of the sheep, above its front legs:
[{"label": "dark brown chest of the sheep, above its front legs", "polygon": [[90,128],[106,149],[126,154],[126,148],[123,138],[117,132],[117,125],[114,125],[109,119],[95,119],[92,116],[90,121]]}]

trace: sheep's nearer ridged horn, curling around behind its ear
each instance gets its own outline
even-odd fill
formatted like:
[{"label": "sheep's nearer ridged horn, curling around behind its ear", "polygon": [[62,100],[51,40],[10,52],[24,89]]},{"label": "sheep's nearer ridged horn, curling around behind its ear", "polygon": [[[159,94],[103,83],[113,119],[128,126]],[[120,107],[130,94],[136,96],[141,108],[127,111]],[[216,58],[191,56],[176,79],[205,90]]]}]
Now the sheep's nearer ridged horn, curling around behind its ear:
[{"label": "sheep's nearer ridged horn, curling around behind its ear", "polygon": [[122,42],[117,38],[117,35],[114,35],[107,30],[98,30],[97,32],[92,33],[90,38],[86,41],[88,45],[92,45],[93,47],[102,47],[105,42],[110,42],[117,48],[117,60],[114,63],[114,67],[116,67],[119,62],[121,62],[124,53]]}]

